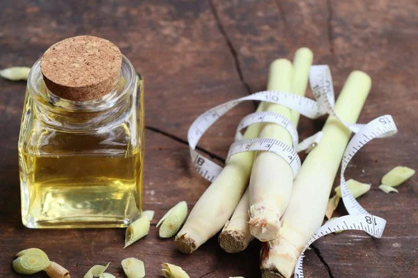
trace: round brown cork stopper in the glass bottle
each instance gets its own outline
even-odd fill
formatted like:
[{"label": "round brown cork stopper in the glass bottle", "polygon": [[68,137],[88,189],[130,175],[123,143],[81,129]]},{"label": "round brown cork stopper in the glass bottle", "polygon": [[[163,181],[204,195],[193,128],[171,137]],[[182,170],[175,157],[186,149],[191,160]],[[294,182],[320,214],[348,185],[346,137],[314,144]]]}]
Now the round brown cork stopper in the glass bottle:
[{"label": "round brown cork stopper in the glass bottle", "polygon": [[40,59],[47,88],[72,101],[98,99],[113,90],[121,76],[122,54],[115,44],[91,35],[57,42]]}]

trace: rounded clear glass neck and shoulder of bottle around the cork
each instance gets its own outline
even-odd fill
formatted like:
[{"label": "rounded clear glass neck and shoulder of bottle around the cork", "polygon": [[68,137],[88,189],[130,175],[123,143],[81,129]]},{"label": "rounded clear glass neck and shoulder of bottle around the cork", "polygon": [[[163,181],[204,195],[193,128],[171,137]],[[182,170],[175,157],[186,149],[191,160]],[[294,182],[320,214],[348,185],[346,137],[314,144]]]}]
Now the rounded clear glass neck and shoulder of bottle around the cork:
[{"label": "rounded clear glass neck and shoulder of bottle around the cork", "polygon": [[123,56],[121,79],[116,88],[100,99],[71,101],[50,92],[40,72],[40,60],[28,78],[29,97],[39,119],[52,129],[67,132],[102,132],[118,125],[136,108],[140,76]]}]

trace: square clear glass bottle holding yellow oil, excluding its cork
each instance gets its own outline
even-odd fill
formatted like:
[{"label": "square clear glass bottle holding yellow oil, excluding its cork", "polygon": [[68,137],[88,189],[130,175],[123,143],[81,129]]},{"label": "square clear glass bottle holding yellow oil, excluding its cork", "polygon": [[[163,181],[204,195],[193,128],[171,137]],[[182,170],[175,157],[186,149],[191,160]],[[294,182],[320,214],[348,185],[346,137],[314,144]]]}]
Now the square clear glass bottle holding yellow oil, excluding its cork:
[{"label": "square clear glass bottle holding yellow oil, excluding its cork", "polygon": [[125,56],[116,88],[88,101],[54,95],[33,65],[18,146],[26,227],[126,227],[139,216],[143,93]]}]

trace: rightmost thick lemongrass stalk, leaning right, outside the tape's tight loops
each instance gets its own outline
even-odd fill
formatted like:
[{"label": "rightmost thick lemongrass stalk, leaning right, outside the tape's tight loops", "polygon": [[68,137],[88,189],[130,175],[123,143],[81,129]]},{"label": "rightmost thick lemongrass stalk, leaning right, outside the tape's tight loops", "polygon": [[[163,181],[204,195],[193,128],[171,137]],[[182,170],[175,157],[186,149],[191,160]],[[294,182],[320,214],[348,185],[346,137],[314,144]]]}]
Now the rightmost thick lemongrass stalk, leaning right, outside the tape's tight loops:
[{"label": "rightmost thick lemongrass stalk, leaning right, outside the tape's tight loops", "polygon": [[[348,76],[335,105],[341,120],[357,121],[370,88],[371,79],[364,72],[355,71]],[[297,174],[279,237],[263,243],[263,277],[291,277],[297,258],[323,222],[332,183],[349,139],[346,126],[335,117],[328,117],[322,140]]]}]

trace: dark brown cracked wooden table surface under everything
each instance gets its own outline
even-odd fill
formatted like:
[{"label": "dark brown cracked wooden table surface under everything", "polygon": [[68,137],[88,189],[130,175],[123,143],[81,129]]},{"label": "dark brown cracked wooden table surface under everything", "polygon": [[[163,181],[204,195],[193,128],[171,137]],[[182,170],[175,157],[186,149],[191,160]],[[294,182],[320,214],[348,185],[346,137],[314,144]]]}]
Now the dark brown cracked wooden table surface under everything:
[{"label": "dark brown cracked wooden table surface under everything", "polygon": [[[155,210],[150,234],[126,250],[124,229],[24,228],[17,139],[25,83],[1,79],[0,277],[20,277],[11,261],[27,247],[45,250],[72,277],[108,261],[109,272],[123,277],[119,262],[128,256],[145,262],[147,277],[160,277],[164,262],[181,265],[190,277],[259,277],[259,243],[231,255],[212,238],[185,255],[172,239],[158,238],[155,223],[180,200],[192,208],[209,185],[190,165],[189,124],[212,106],[265,89],[272,60],[291,59],[302,46],[314,51],[314,63],[330,65],[336,92],[351,71],[367,72],[373,88],[360,121],[390,113],[399,129],[393,138],[373,141],[347,171],[347,177],[373,183],[359,202],[387,220],[383,238],[345,231],[320,239],[307,252],[307,277],[417,277],[418,179],[399,186],[399,194],[377,188],[396,165],[418,169],[417,14],[413,0],[0,1],[0,68],[31,66],[54,42],[90,34],[117,44],[144,74],[144,208]],[[224,157],[238,120],[251,111],[251,102],[235,108],[200,146]],[[303,118],[300,136],[322,124]],[[346,214],[342,205],[336,214]]]}]

